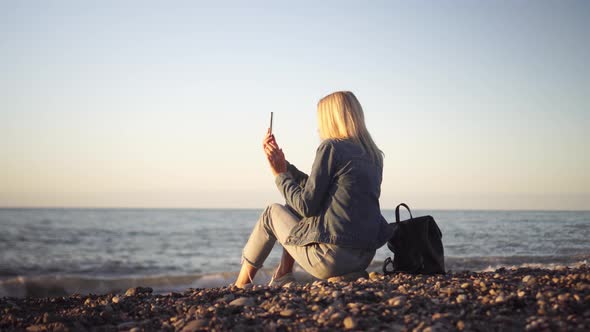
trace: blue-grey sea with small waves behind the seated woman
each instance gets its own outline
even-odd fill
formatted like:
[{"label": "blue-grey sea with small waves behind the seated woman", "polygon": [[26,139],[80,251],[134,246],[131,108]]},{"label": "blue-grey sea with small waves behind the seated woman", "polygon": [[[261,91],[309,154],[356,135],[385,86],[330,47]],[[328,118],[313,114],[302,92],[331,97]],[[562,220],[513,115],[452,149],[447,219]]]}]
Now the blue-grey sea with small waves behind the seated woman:
[{"label": "blue-grey sea with small waves behind the seated woman", "polygon": [[[0,297],[223,287],[262,209],[0,209]],[[451,271],[554,268],[590,259],[590,211],[416,210],[443,233]],[[389,222],[394,211],[383,210]],[[407,215],[402,214],[402,219]],[[267,283],[280,245],[255,283]],[[369,270],[380,271],[387,246]],[[296,267],[296,276],[306,273]]]}]

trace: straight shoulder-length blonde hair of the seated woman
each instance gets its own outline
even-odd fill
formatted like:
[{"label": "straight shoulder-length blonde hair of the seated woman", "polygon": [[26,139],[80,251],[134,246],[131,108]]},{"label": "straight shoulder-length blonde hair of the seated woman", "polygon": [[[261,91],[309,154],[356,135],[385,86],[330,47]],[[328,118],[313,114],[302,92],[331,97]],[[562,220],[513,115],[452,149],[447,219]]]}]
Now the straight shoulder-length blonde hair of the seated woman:
[{"label": "straight shoulder-length blonde hair of the seated woman", "polygon": [[350,91],[337,91],[318,102],[320,138],[351,139],[363,147],[373,162],[383,165],[383,152],[365,126],[363,108]]}]

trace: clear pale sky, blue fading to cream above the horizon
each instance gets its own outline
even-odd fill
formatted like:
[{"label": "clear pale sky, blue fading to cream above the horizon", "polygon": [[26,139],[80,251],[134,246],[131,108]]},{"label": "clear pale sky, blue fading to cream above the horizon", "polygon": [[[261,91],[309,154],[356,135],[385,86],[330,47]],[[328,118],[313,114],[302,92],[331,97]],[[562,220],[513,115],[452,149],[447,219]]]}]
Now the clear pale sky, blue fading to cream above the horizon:
[{"label": "clear pale sky, blue fading to cream above the horizon", "polygon": [[[213,4],[214,3],[214,4]],[[590,209],[588,1],[0,0],[0,206],[280,202],[353,91],[382,206]]]}]

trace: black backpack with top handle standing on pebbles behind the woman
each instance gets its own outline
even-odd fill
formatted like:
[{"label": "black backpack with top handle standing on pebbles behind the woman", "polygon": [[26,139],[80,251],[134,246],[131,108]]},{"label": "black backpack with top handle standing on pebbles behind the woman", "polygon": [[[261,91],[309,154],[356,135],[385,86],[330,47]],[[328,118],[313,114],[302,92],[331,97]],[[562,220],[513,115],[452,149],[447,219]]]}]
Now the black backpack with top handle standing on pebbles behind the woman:
[{"label": "black backpack with top handle standing on pebbles behind the woman", "polygon": [[[410,212],[410,219],[399,220],[399,208]],[[445,273],[445,255],[442,233],[432,216],[413,218],[410,208],[401,203],[395,208],[395,223],[390,223],[394,232],[387,247],[393,252],[393,260],[387,257],[383,273],[405,272],[412,274]],[[391,265],[391,268],[388,266]]]}]

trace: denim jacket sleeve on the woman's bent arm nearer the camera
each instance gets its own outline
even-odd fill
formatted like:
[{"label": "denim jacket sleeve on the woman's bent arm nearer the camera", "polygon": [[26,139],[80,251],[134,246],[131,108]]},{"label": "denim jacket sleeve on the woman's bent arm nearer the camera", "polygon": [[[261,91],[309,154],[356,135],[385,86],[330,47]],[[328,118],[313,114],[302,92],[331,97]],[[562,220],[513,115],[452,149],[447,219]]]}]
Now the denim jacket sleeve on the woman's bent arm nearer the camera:
[{"label": "denim jacket sleeve on the woman's bent arm nearer the camera", "polygon": [[304,186],[298,185],[291,172],[279,174],[275,183],[287,204],[297,213],[303,217],[316,216],[328,194],[335,163],[334,147],[329,141],[324,141],[317,149],[311,174]]}]

